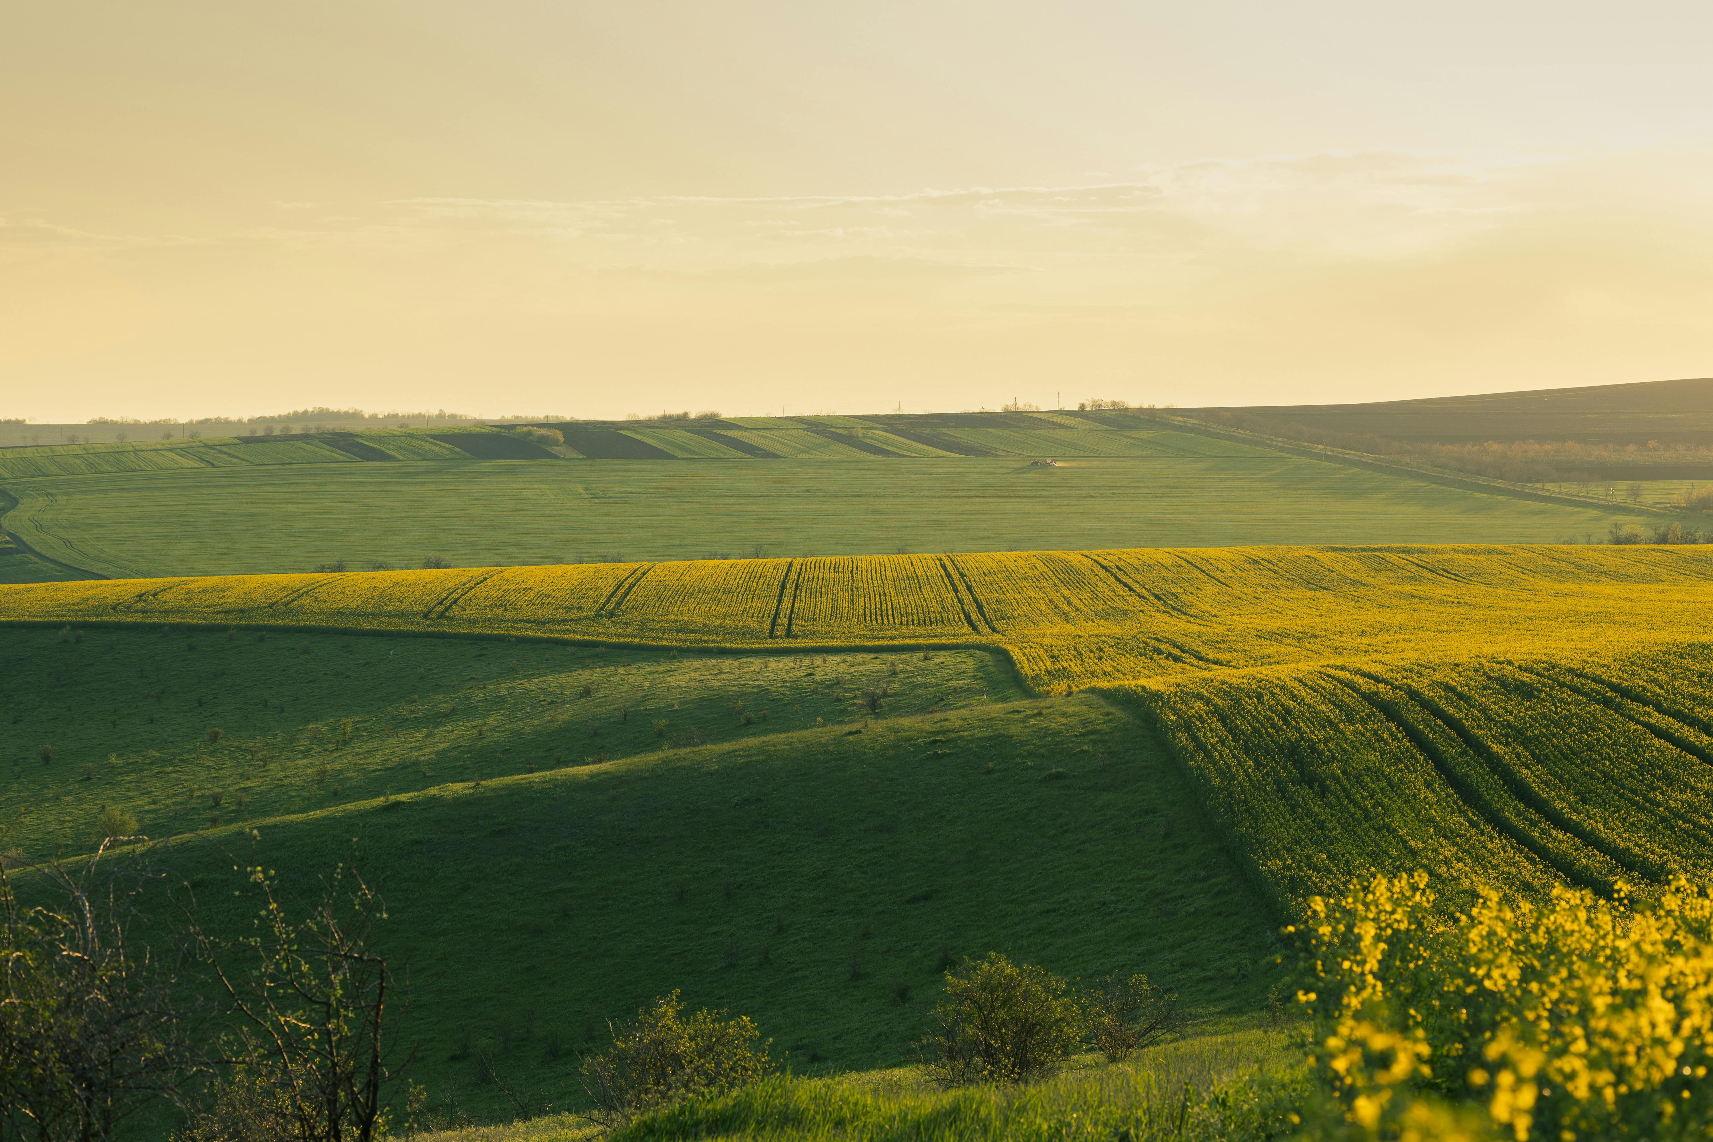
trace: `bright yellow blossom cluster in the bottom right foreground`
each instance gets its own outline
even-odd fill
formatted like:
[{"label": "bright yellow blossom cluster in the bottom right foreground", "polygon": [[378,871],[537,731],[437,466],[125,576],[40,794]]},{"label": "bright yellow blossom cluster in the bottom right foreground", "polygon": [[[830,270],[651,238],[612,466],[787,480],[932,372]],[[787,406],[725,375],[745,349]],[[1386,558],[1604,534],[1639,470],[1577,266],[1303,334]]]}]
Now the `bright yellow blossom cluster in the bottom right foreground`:
[{"label": "bright yellow blossom cluster in the bottom right foreground", "polygon": [[1376,877],[1316,897],[1298,928],[1314,1060],[1352,1123],[1401,1130],[1437,1096],[1480,1104],[1518,1142],[1713,1132],[1704,892],[1675,880],[1638,909],[1485,890],[1447,914],[1429,883]]}]

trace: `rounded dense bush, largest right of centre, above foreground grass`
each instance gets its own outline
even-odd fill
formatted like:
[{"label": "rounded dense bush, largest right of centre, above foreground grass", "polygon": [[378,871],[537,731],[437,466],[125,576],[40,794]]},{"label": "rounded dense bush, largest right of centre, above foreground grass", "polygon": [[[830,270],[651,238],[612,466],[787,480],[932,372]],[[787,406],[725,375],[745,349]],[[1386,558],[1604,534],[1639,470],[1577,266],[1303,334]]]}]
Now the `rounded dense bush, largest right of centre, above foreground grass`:
[{"label": "rounded dense bush, largest right of centre, above foreground grass", "polygon": [[999,952],[946,972],[922,1062],[940,1085],[1018,1084],[1052,1074],[1083,1038],[1069,984]]}]

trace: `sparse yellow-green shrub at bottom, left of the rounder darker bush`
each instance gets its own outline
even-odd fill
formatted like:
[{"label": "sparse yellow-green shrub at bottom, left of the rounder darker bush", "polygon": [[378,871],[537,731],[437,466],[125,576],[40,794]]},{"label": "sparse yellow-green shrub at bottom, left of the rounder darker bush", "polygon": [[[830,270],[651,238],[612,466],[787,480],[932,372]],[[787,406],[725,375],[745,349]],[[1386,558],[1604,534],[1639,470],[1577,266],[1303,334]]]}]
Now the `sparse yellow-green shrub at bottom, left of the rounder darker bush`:
[{"label": "sparse yellow-green shrub at bottom, left of the rounder darker bush", "polygon": [[584,1116],[615,1130],[637,1115],[702,1094],[723,1094],[773,1070],[771,1041],[738,1015],[701,1010],[683,1015],[678,993],[637,1012],[613,1029],[613,1044],[582,1063],[582,1089],[593,1109]]}]

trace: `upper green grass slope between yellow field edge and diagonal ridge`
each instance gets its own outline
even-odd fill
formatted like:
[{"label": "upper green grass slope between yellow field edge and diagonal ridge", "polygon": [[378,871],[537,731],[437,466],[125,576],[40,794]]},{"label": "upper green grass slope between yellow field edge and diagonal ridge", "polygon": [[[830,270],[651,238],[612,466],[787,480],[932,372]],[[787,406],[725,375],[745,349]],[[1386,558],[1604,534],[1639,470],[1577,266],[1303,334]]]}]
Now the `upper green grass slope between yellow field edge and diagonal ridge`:
[{"label": "upper green grass slope between yellow field edge and diagonal ridge", "polygon": [[163,836],[1024,693],[980,651],[680,656],[171,628],[0,628],[0,849],[34,858],[84,851],[108,805]]}]

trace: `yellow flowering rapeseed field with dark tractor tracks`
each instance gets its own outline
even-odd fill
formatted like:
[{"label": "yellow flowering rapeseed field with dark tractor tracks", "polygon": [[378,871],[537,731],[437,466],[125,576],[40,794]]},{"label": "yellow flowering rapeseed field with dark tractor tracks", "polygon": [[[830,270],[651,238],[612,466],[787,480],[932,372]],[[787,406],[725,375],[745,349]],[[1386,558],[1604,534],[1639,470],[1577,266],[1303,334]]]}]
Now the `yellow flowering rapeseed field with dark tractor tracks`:
[{"label": "yellow flowering rapeseed field with dark tractor tracks", "polygon": [[1148,721],[1285,911],[1369,870],[1713,878],[1713,550],[1223,548],[0,587],[0,622],[976,645]]}]

